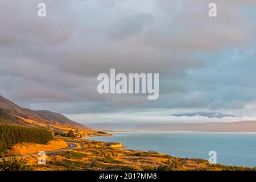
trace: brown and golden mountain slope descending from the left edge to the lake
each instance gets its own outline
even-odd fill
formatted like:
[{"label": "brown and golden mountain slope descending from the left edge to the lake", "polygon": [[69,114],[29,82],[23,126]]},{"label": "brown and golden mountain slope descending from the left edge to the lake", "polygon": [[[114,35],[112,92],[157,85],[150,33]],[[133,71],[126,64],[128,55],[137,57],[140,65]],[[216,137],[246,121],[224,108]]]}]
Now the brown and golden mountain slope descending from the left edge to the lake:
[{"label": "brown and golden mountain slope descending from the left edge to the lake", "polygon": [[22,108],[6,98],[0,96],[0,124],[18,124],[25,126],[44,127],[52,131],[77,130],[84,133],[95,133],[96,131],[71,121],[64,115],[47,110],[30,110]]}]

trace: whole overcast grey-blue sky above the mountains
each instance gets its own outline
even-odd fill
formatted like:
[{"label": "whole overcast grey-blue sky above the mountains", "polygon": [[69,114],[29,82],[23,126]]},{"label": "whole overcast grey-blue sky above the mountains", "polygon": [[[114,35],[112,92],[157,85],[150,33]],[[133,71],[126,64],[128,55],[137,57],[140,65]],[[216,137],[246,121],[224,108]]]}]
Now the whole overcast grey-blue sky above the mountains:
[{"label": "whole overcast grey-blue sky above the mountains", "polygon": [[[0,23],[0,95],[20,106],[81,123],[256,119],[255,0],[1,0]],[[110,68],[159,73],[158,100],[98,94]]]}]

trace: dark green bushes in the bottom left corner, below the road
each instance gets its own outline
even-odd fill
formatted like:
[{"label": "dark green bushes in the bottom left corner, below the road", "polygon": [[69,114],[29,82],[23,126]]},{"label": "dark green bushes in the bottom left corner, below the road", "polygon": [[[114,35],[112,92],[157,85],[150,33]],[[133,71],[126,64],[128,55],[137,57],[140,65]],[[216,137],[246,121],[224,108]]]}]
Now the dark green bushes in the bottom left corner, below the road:
[{"label": "dark green bushes in the bottom left corner, below the road", "polygon": [[3,158],[0,162],[0,169],[4,171],[30,171],[31,167],[25,159],[18,158]]}]

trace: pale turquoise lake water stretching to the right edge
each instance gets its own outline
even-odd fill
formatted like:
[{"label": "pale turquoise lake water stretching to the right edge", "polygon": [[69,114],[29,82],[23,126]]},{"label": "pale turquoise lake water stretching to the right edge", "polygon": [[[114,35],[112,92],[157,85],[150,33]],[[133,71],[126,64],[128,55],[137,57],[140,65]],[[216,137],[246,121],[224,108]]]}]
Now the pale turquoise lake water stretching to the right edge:
[{"label": "pale turquoise lake water stretching to the right edge", "polygon": [[115,132],[113,137],[93,137],[97,141],[122,142],[131,150],[157,151],[180,158],[209,159],[217,152],[217,163],[256,166],[256,133],[207,132]]}]

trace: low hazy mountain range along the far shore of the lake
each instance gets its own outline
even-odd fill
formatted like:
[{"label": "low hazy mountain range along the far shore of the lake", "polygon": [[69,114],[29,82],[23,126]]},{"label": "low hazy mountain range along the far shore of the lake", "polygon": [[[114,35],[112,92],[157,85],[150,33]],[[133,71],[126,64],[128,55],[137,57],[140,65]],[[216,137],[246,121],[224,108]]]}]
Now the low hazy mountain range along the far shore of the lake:
[{"label": "low hazy mountain range along the far shore of the lake", "polygon": [[96,130],[108,131],[215,131],[256,132],[256,121],[211,123],[85,123]]}]

